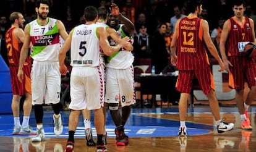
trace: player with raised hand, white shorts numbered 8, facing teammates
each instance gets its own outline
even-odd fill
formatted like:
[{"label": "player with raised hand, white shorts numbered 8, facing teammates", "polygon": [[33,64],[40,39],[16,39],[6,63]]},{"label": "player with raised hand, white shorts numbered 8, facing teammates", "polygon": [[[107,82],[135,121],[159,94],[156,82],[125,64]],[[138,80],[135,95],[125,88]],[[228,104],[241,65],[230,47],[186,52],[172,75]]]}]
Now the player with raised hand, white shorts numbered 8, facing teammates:
[{"label": "player with raised hand, white shorts numbered 8, facing teammates", "polygon": [[[111,14],[109,14],[108,25],[114,28],[117,33],[123,36],[130,36],[130,43],[133,43],[132,33],[134,24],[119,12],[116,4],[111,4]],[[119,24],[119,20],[124,24]],[[116,41],[109,40],[111,46],[115,46]],[[124,125],[130,116],[132,105],[135,103],[134,93],[134,68],[132,66],[134,56],[126,48],[120,49],[117,53],[109,56],[106,61],[106,96],[111,117],[116,125],[116,145],[128,145],[128,136],[124,133]],[[119,112],[121,103],[122,114]]]}]

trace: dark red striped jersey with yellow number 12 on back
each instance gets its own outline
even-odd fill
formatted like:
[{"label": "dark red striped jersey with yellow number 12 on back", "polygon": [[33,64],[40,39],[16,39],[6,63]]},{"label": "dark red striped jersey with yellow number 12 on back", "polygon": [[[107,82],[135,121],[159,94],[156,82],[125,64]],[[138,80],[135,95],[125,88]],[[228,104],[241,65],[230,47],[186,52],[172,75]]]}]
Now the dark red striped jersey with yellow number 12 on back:
[{"label": "dark red striped jersey with yellow number 12 on back", "polygon": [[177,32],[177,68],[179,70],[205,69],[209,65],[203,41],[202,19],[184,17]]}]

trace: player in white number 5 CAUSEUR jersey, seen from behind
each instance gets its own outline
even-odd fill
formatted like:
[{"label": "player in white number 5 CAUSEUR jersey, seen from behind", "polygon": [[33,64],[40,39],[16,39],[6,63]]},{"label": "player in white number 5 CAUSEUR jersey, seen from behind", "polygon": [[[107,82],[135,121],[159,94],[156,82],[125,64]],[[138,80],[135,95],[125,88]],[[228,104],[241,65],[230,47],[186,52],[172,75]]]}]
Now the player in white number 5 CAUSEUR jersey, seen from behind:
[{"label": "player in white number 5 CAUSEUR jersey, seen from behind", "polygon": [[105,28],[95,24],[98,20],[97,9],[93,6],[85,7],[83,17],[86,23],[72,29],[59,53],[59,70],[62,75],[67,73],[64,60],[69,49],[72,65],[69,104],[71,112],[66,151],[74,151],[74,134],[83,109],[94,110],[96,148],[97,151],[106,151],[103,143],[105,74],[102,55],[104,53],[110,56],[116,53],[129,43],[129,38],[120,39],[117,46],[110,46]]}]

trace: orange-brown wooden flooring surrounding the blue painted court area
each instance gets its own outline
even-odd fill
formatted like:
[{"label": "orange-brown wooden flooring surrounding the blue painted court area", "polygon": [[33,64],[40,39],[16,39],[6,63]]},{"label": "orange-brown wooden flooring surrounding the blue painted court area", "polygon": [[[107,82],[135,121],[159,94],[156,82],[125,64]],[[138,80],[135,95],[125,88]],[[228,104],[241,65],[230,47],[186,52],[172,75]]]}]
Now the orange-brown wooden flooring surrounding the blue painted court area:
[{"label": "orange-brown wooden flooring surrounding the blue painted court area", "polygon": [[[145,111],[150,111],[144,108]],[[164,108],[162,108],[164,109]],[[173,107],[175,109],[175,107]],[[171,111],[173,111],[171,109]],[[144,111],[140,109],[139,111]],[[151,114],[150,112],[135,114],[158,120],[178,120],[178,114]],[[161,111],[161,109],[160,109]],[[213,118],[210,114],[208,106],[195,106],[190,108],[187,114],[188,122],[195,124],[195,130],[198,124],[212,125]],[[241,129],[240,116],[237,114],[236,107],[221,107],[221,116],[226,118],[228,122],[234,122],[234,129],[230,132],[218,134],[214,129],[207,129],[209,132],[200,135],[189,135],[187,137],[178,138],[176,135],[169,137],[130,137],[128,146],[115,146],[114,137],[108,138],[108,151],[256,151],[256,108],[250,108],[249,117],[254,130],[244,131]],[[52,116],[52,115],[51,115]],[[5,117],[5,116],[0,116]],[[0,119],[1,120],[1,119]],[[2,122],[1,122],[2,123]],[[161,124],[161,122],[160,122]],[[4,124],[1,124],[1,126]],[[67,124],[64,124],[67,125]],[[152,124],[156,125],[156,124]],[[214,127],[213,127],[214,128]],[[177,132],[177,127],[174,131]],[[191,131],[192,130],[192,131]],[[170,132],[173,130],[169,130]],[[193,132],[190,129],[189,134]],[[129,135],[129,133],[128,133]],[[1,136],[1,133],[0,133]],[[46,141],[40,143],[32,143],[31,137],[0,137],[0,151],[64,151],[67,138],[46,138]],[[85,138],[75,138],[74,151],[96,151],[95,147],[85,145]]]}]

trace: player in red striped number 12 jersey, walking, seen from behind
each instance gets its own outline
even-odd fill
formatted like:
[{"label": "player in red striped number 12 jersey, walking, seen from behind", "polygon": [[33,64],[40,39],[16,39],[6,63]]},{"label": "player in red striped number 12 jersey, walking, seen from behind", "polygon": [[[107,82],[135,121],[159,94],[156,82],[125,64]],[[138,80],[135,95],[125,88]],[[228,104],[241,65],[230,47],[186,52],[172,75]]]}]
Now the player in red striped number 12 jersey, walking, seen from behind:
[{"label": "player in red striped number 12 jersey, walking, seen from behind", "polygon": [[220,64],[220,71],[224,70],[224,64],[211,41],[208,22],[198,18],[198,15],[202,13],[203,9],[202,1],[189,0],[187,6],[189,6],[187,8],[189,15],[177,21],[173,40],[171,41],[171,63],[177,65],[177,69],[179,69],[176,89],[177,91],[181,91],[181,98],[179,100],[180,127],[178,135],[187,135],[185,122],[187,115],[187,100],[190,96],[194,78],[197,78],[203,93],[209,100],[217,132],[223,133],[233,129],[234,124],[227,124],[221,119],[220,108],[215,95],[213,75],[211,74],[205,44],[211,55],[215,57]]}]

